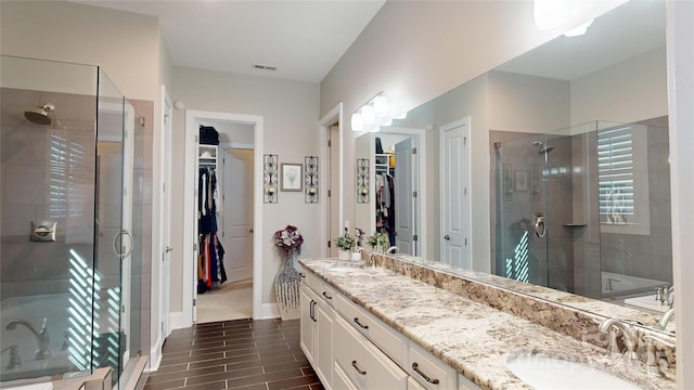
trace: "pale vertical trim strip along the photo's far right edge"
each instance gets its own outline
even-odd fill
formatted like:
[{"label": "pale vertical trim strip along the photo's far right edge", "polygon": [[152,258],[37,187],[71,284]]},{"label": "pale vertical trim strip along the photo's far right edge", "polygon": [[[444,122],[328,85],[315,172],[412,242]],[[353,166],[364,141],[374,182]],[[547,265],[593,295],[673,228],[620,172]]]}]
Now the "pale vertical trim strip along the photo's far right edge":
[{"label": "pale vertical trim strip along the photo's far right edge", "polygon": [[677,286],[674,326],[677,330],[677,387],[694,388],[694,2],[667,1],[668,113],[670,127],[670,194],[672,203],[672,273]]}]

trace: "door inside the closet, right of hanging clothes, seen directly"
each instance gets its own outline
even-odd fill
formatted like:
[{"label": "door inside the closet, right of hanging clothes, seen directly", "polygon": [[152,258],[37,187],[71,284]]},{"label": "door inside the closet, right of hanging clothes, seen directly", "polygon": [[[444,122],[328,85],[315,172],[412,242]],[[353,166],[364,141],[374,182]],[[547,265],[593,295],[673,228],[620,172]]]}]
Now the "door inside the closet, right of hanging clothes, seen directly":
[{"label": "door inside the closet, right of hanging clothes, seen directly", "polygon": [[222,232],[229,282],[253,277],[253,150],[223,151]]}]

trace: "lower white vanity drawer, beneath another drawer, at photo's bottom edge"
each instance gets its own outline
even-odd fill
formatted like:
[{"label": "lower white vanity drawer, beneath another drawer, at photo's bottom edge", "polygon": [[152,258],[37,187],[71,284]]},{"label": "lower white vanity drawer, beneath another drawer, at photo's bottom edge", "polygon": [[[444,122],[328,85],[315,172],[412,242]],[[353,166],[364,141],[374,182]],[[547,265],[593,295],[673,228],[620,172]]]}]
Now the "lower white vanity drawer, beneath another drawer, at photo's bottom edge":
[{"label": "lower white vanity drawer, beneath another drawer, at photo's bottom edge", "polygon": [[407,390],[408,374],[339,316],[334,347],[338,375],[344,374],[351,385],[347,388]]}]

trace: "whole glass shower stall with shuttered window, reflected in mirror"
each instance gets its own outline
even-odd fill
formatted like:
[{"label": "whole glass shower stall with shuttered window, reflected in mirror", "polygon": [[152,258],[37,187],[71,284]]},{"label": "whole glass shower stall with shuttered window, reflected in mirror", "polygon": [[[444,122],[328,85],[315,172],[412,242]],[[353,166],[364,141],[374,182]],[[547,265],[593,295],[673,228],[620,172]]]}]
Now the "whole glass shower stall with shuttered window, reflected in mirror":
[{"label": "whole glass shower stall with shuttered window, reflected in mirror", "polygon": [[606,300],[671,285],[668,156],[667,118],[496,142],[494,273]]}]

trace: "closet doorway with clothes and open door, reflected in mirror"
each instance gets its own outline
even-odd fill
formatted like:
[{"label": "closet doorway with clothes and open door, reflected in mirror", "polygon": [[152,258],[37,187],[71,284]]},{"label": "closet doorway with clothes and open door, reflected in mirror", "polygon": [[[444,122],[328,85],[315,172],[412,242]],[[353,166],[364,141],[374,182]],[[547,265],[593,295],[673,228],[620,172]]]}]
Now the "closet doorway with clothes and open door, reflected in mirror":
[{"label": "closet doorway with clothes and open door, reflected in mirror", "polygon": [[[365,182],[370,183],[367,195],[363,196],[363,190],[357,194],[357,227],[369,235],[386,234],[388,247],[395,246],[396,252],[412,256],[421,256],[426,247],[420,238],[420,232],[426,227],[426,216],[422,212],[426,190],[420,185],[426,177],[426,161],[420,156],[423,140],[424,130],[391,128],[362,134],[356,141],[357,160],[369,161],[369,167],[373,167],[367,170]],[[358,184],[359,174],[358,167]]]}]

